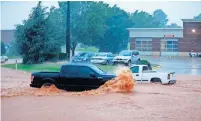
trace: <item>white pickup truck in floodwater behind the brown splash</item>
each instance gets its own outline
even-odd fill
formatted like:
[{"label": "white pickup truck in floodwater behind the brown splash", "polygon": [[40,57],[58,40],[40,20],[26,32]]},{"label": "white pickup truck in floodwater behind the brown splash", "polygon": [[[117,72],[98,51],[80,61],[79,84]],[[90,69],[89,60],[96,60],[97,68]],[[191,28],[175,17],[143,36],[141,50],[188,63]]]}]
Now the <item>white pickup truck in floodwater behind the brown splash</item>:
[{"label": "white pickup truck in floodwater behind the brown splash", "polygon": [[147,65],[134,65],[131,68],[133,78],[137,83],[161,82],[162,84],[174,84],[175,72],[163,73],[149,70]]}]

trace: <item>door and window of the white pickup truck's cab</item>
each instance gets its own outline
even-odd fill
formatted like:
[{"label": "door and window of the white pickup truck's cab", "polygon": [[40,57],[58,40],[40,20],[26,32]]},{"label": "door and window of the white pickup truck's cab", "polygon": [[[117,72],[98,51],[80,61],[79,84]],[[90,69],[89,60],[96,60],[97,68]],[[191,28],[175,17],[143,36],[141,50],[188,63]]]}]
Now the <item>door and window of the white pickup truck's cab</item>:
[{"label": "door and window of the white pickup truck's cab", "polygon": [[142,73],[140,73],[139,66],[131,67],[131,71],[133,74],[133,78],[136,80],[137,83],[141,83],[142,81]]}]

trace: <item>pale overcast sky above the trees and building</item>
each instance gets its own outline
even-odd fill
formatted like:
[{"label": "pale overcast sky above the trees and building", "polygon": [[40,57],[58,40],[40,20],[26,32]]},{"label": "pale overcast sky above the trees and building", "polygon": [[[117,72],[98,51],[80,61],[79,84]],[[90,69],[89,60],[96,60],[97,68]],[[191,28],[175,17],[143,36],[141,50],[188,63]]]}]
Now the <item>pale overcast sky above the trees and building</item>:
[{"label": "pale overcast sky above the trees and building", "polygon": [[[105,1],[110,6],[117,4],[118,7],[127,11],[134,12],[135,10],[143,10],[150,14],[156,9],[162,9],[168,16],[168,24],[176,23],[182,26],[181,19],[191,19],[201,13],[201,1]],[[0,29],[15,29],[15,25],[22,24],[22,21],[28,18],[32,7],[35,7],[37,2],[1,2],[1,26]],[[43,6],[58,7],[56,1],[44,1]]]}]

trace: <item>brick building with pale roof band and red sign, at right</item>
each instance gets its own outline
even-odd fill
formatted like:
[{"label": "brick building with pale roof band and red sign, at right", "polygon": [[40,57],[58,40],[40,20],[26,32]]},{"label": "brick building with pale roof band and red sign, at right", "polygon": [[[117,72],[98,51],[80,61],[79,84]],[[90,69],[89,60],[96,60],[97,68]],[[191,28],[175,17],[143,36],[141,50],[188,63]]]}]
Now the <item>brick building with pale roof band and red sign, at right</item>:
[{"label": "brick building with pale roof band and red sign, at right", "polygon": [[182,19],[183,28],[128,28],[130,49],[141,55],[188,56],[201,52],[201,21]]}]

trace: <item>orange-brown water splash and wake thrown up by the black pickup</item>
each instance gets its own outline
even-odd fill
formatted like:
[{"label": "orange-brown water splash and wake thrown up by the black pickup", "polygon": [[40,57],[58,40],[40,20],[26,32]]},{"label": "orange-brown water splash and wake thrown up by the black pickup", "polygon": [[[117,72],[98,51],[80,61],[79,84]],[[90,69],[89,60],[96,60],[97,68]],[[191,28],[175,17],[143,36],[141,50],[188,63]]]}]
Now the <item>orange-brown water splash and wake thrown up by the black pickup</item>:
[{"label": "orange-brown water splash and wake thrown up by the black pickup", "polygon": [[66,92],[51,85],[50,87],[35,88],[10,88],[1,91],[1,97],[12,96],[56,96],[56,95],[101,95],[108,92],[131,92],[135,86],[135,80],[132,73],[127,67],[118,67],[116,69],[117,77],[107,81],[98,89],[82,91],[82,92]]}]

